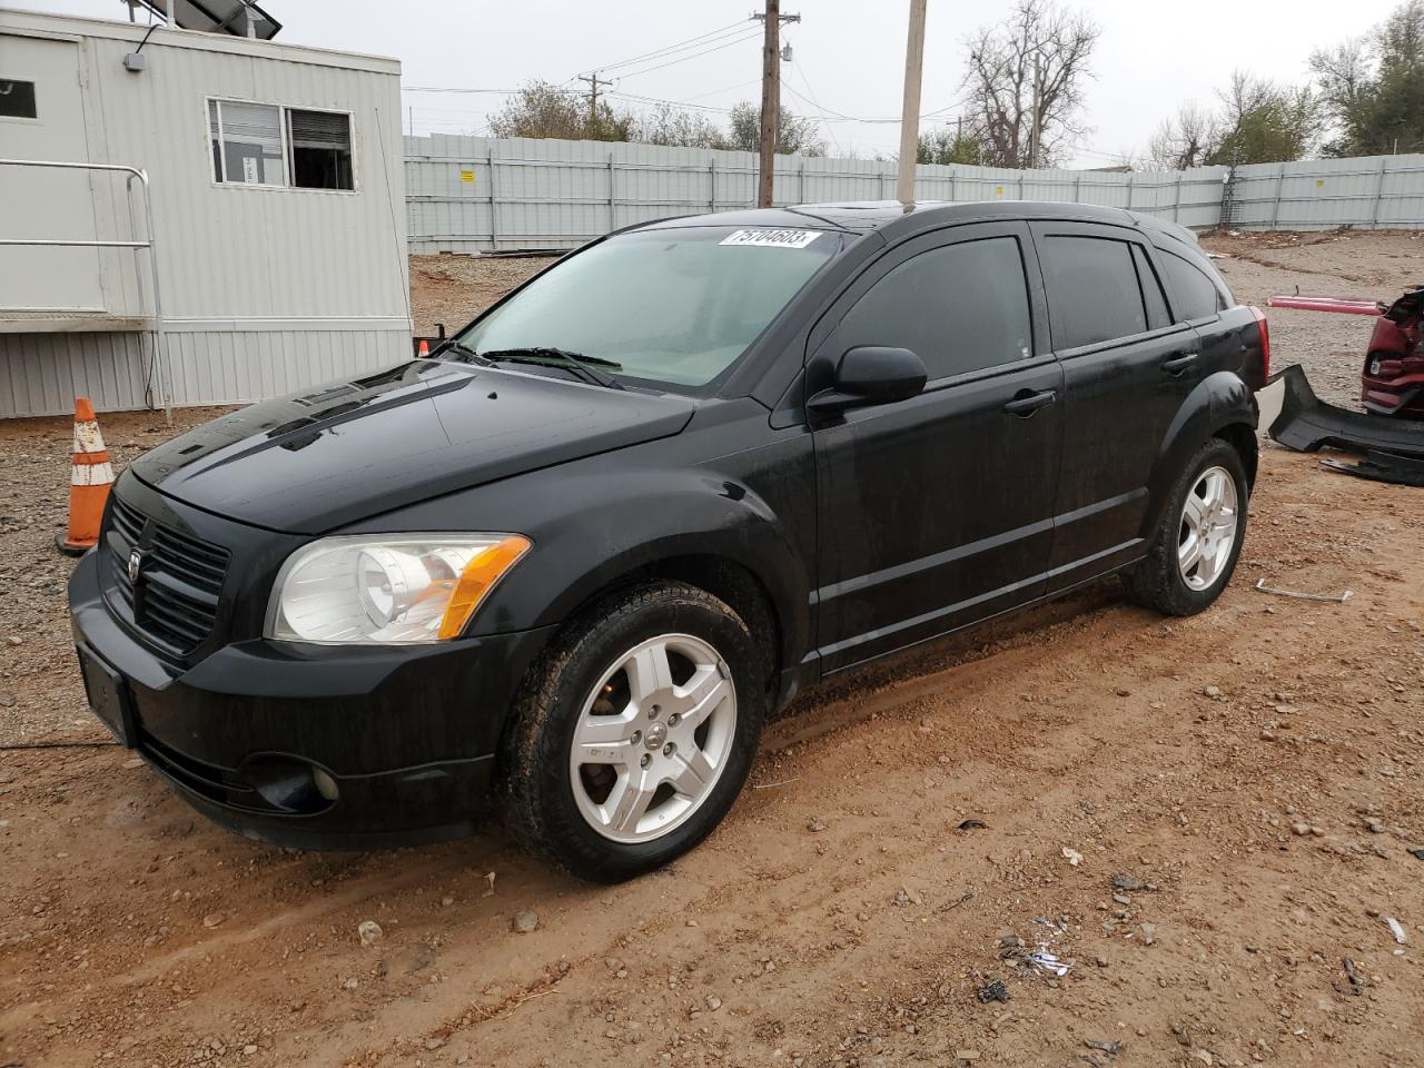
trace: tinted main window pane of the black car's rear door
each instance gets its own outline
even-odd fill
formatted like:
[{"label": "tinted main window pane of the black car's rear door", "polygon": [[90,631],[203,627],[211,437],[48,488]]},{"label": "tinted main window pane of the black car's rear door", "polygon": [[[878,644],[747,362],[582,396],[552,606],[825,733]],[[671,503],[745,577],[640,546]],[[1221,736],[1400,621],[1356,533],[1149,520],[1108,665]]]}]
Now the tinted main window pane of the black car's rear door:
[{"label": "tinted main window pane of the black car's rear door", "polygon": [[1041,249],[1055,349],[1077,349],[1146,332],[1131,244],[1051,236]]}]

